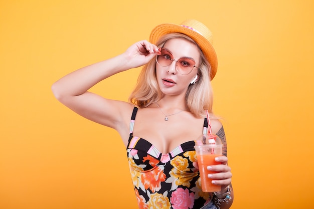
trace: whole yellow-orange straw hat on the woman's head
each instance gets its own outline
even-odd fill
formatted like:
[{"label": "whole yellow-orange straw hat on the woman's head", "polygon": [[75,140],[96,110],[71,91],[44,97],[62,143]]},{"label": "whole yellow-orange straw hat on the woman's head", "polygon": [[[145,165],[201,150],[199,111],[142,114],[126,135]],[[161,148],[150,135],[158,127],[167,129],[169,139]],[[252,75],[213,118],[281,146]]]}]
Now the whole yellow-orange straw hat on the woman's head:
[{"label": "whole yellow-orange straw hat on the woman's head", "polygon": [[164,35],[171,33],[181,33],[191,37],[201,48],[206,59],[211,65],[211,77],[212,80],[217,72],[217,55],[213,47],[212,32],[202,23],[196,20],[186,20],[180,25],[176,24],[162,24],[156,26],[150,33],[149,41],[152,44],[156,42]]}]

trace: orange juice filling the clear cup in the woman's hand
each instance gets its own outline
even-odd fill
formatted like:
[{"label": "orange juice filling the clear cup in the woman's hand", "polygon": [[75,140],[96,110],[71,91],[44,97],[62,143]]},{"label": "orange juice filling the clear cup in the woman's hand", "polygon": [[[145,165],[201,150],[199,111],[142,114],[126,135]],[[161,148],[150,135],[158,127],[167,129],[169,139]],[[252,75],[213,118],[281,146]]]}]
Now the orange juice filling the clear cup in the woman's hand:
[{"label": "orange juice filling the clear cup in the woman's hand", "polygon": [[212,179],[208,178],[208,174],[216,173],[207,169],[208,165],[218,165],[220,162],[215,161],[215,157],[221,156],[221,154],[203,154],[197,155],[197,162],[200,168],[202,191],[213,192],[220,191],[221,186],[212,184]]}]

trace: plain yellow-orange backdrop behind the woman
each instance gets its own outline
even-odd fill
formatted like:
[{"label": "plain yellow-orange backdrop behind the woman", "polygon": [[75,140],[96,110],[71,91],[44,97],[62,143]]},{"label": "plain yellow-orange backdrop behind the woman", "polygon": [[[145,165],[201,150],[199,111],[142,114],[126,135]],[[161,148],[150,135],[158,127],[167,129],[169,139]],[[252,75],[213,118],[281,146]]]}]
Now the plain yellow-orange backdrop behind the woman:
[{"label": "plain yellow-orange backdrop behind the woman", "polygon": [[[116,131],[60,104],[51,85],[197,19],[214,34],[236,208],[313,208],[314,2],[1,1],[0,208],[137,208]],[[93,91],[127,100],[139,69]]]}]

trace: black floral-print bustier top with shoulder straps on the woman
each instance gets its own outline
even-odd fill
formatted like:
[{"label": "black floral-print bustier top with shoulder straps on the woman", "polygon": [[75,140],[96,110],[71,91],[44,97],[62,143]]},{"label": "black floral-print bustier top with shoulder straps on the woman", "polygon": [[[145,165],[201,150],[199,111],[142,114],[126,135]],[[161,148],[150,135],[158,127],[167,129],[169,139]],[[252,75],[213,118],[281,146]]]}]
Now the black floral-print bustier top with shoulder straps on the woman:
[{"label": "black floral-print bustier top with shoulder straps on the woman", "polygon": [[[188,141],[168,154],[161,153],[150,142],[133,136],[137,108],[130,122],[127,157],[140,209],[195,209],[212,205],[211,193],[203,192],[196,161],[195,141]],[[207,130],[207,119],[204,130]]]}]

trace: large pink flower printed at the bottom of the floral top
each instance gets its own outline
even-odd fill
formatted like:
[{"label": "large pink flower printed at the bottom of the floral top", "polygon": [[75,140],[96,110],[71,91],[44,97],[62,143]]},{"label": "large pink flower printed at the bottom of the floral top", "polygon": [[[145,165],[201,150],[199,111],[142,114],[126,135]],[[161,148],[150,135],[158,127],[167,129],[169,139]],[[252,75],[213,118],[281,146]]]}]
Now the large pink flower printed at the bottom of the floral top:
[{"label": "large pink flower printed at the bottom of the floral top", "polygon": [[189,189],[178,188],[172,192],[170,202],[174,209],[188,209],[194,205],[194,193],[190,193]]}]

